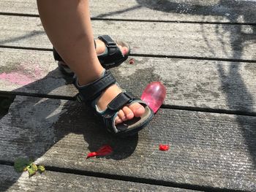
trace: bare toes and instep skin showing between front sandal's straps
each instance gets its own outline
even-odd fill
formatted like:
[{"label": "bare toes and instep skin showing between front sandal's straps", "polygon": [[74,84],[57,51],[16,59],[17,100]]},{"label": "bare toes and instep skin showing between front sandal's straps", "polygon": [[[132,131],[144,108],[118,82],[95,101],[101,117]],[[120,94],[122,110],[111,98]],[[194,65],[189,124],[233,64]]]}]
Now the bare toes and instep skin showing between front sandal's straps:
[{"label": "bare toes and instep skin showing between front sandal's straps", "polygon": [[[99,110],[105,110],[110,103],[117,95],[121,93],[121,89],[118,85],[112,85],[102,93],[102,96],[99,98],[97,102],[97,106]],[[144,107],[141,104],[134,103],[129,106],[125,106],[118,112],[118,116],[116,117],[115,124],[122,123],[126,120],[131,120],[136,117],[139,118],[145,112]]]}]

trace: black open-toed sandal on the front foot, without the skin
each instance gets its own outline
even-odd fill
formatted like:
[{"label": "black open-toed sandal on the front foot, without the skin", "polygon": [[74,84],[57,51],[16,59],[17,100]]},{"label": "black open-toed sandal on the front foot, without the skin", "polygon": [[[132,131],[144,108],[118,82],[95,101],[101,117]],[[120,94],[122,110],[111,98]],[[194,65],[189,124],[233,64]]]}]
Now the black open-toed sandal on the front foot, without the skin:
[{"label": "black open-toed sandal on the front foot, without the skin", "polygon": [[[116,136],[126,137],[132,134],[136,134],[142,128],[144,128],[150,120],[154,117],[154,112],[148,107],[148,105],[137,99],[132,93],[128,93],[123,90],[122,93],[119,93],[116,98],[114,98],[108,107],[104,111],[99,111],[97,107],[98,97],[105,91],[106,88],[110,87],[116,83],[116,78],[109,71],[105,71],[102,74],[102,77],[91,82],[87,85],[80,86],[78,85],[78,80],[75,80],[75,86],[78,88],[77,99],[80,102],[85,102],[90,107],[94,108],[94,111],[97,115],[102,117],[103,123],[110,133],[115,134]],[[117,84],[118,85],[118,84]],[[145,112],[140,118],[133,118],[132,120],[127,120],[123,123],[115,125],[115,119],[118,115],[118,111],[121,110],[124,106],[138,102],[145,107]]]}]

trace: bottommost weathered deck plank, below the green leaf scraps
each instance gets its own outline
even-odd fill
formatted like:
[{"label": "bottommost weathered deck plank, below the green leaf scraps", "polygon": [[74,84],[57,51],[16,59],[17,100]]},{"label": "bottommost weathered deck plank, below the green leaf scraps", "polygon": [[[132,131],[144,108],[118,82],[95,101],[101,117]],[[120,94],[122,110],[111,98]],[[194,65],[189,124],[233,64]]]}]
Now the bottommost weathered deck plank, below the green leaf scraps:
[{"label": "bottommost weathered deck plank, below the green leaf scraps", "polygon": [[192,191],[78,174],[46,171],[33,177],[0,165],[0,191]]}]

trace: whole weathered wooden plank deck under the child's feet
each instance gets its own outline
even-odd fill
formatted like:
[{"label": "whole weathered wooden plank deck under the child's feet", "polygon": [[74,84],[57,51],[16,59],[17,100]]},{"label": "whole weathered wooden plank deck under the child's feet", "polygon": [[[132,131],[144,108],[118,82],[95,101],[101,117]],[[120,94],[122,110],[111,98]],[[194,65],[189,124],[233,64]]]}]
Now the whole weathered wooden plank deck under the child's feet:
[{"label": "whole weathered wooden plank deck under the child's feet", "polygon": [[[0,0],[0,191],[256,191],[256,1],[91,0],[94,34],[125,39],[111,69],[165,104],[129,139],[108,134],[57,69],[34,0]],[[170,150],[158,150],[161,143]],[[111,145],[108,158],[86,154]],[[33,157],[46,172],[12,168]]]}]

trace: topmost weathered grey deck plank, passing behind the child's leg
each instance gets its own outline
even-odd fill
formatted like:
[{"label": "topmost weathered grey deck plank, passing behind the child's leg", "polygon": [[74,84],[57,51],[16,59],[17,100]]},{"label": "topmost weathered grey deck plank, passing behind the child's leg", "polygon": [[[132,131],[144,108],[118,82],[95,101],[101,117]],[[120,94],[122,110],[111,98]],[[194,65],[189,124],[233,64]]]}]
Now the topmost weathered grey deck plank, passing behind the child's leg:
[{"label": "topmost weathered grey deck plank, passing behind the child's leg", "polygon": [[[92,18],[255,23],[255,1],[91,0]],[[1,0],[0,12],[37,15],[33,0]]]}]

